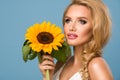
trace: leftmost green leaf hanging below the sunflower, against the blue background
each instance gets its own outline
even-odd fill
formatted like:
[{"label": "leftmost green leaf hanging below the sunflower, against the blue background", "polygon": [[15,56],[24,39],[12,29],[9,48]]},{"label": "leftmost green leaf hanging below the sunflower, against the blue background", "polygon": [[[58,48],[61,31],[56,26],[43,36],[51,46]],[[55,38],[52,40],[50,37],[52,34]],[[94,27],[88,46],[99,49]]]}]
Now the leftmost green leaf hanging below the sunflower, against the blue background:
[{"label": "leftmost green leaf hanging below the sunflower, against the blue background", "polygon": [[29,55],[29,53],[30,53],[30,47],[29,47],[29,45],[24,45],[24,46],[22,47],[22,53],[23,53],[23,60],[24,60],[25,62],[27,62],[27,60],[28,60],[28,55]]}]

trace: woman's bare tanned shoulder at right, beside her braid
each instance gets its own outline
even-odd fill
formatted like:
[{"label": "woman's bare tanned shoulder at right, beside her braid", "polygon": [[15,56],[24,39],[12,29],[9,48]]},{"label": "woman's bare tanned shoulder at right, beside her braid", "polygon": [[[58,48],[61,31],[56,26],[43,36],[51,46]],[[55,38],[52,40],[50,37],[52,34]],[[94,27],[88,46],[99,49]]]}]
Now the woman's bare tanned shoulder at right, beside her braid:
[{"label": "woman's bare tanned shoulder at right, beside her braid", "polygon": [[113,80],[109,66],[102,57],[92,59],[88,70],[91,80]]}]

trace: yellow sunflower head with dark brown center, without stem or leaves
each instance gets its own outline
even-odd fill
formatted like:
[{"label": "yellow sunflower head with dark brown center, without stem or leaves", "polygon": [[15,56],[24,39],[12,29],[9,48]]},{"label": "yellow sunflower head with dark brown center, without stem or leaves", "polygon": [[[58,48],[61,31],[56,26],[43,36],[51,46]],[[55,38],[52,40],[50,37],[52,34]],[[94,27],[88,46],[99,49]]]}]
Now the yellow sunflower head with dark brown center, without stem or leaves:
[{"label": "yellow sunflower head with dark brown center, without stem or leaves", "polygon": [[44,21],[28,28],[25,39],[30,42],[32,50],[51,54],[52,49],[58,50],[58,47],[62,47],[64,34],[61,32],[60,27]]}]

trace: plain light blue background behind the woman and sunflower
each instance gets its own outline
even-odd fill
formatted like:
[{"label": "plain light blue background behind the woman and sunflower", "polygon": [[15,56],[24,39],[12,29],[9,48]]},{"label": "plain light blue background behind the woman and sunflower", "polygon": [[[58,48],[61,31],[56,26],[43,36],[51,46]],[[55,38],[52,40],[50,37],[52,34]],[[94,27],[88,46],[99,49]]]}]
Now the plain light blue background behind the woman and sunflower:
[{"label": "plain light blue background behind the woman and sunflower", "polygon": [[[112,37],[104,49],[115,80],[120,80],[120,0],[104,0],[112,16]],[[62,27],[70,0],[0,0],[0,80],[42,80],[37,58],[25,63],[21,47],[26,29],[51,21]]]}]

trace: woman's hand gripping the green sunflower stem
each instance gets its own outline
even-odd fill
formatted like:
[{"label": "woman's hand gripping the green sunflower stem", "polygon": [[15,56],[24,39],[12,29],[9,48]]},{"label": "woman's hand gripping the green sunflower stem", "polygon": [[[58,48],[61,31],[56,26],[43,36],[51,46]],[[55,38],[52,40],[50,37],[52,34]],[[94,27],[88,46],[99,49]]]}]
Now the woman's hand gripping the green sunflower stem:
[{"label": "woman's hand gripping the green sunflower stem", "polygon": [[50,80],[52,80],[52,76],[55,71],[54,59],[50,55],[43,55],[42,62],[39,64],[40,71],[43,74],[44,80],[46,79],[46,70],[48,69],[50,72]]}]

